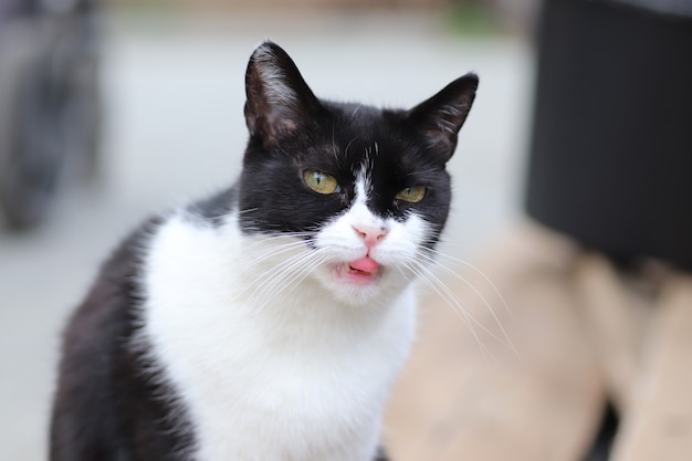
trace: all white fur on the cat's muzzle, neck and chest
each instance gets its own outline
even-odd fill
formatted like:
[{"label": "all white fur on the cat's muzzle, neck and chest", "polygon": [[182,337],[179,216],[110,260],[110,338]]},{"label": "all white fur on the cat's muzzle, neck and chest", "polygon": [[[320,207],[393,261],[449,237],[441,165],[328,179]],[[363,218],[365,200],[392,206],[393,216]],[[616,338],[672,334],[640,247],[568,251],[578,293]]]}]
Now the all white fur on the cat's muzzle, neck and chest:
[{"label": "all white fur on the cat's muzzle, neck and chest", "polygon": [[[427,226],[378,218],[358,191],[316,249],[244,235],[235,213],[218,228],[176,213],[154,237],[145,339],[187,407],[196,461],[373,459],[415,331],[405,264]],[[336,263],[368,252],[357,226],[388,232],[370,251],[376,284],[335,277]]]}]

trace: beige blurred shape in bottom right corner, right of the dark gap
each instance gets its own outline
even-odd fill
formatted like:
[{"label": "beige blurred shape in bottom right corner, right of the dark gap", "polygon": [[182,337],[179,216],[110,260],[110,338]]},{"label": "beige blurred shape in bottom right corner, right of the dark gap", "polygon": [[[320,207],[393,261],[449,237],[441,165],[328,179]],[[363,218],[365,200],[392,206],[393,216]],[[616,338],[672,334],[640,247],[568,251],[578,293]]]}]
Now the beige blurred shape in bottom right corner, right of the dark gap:
[{"label": "beige blurred shape in bottom right corner, right of the dark gap", "polygon": [[692,458],[692,277],[671,276],[650,323],[615,461]]}]

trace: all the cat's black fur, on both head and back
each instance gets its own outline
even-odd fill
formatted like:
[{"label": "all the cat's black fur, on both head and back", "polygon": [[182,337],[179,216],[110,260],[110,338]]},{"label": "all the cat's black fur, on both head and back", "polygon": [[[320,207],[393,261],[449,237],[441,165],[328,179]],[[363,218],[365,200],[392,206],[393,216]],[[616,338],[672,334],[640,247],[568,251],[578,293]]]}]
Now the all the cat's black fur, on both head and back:
[{"label": "all the cat's black fur, on both head and back", "polygon": [[[241,177],[187,212],[195,222],[219,226],[238,210],[243,232],[310,235],[347,209],[365,166],[373,212],[402,220],[416,211],[441,231],[451,198],[444,166],[476,85],[468,74],[410,111],[337,104],[317,99],[289,55],[264,43],[247,72],[250,139]],[[342,191],[315,193],[304,182],[306,169],[333,175]],[[395,198],[412,186],[426,187],[422,201]],[[193,451],[185,408],[147,357],[146,343],[134,340],[146,301],[141,251],[159,222],[148,221],[104,264],[65,331],[51,461],[176,461]],[[434,232],[427,244],[437,240]],[[376,461],[386,459],[380,451]]]}]

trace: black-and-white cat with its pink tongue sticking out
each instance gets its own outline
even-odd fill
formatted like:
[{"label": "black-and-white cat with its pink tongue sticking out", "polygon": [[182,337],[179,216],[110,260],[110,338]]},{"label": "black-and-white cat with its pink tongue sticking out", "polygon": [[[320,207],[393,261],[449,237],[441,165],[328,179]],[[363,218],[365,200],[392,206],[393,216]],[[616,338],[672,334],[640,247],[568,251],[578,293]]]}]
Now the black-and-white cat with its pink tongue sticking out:
[{"label": "black-and-white cat with its pink tongue sticking out", "polygon": [[67,324],[51,460],[385,460],[478,81],[409,111],[334,103],[262,43],[235,185],[146,221]]}]

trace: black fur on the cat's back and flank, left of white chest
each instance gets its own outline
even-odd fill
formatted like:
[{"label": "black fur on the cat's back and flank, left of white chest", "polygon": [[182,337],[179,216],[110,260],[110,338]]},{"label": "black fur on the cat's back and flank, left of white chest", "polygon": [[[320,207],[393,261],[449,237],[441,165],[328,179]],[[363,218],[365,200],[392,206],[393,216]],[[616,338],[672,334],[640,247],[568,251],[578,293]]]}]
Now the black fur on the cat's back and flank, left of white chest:
[{"label": "black fur on the cat's back and flank, left of white chest", "polygon": [[132,344],[144,301],[139,252],[156,226],[148,221],[103,265],[65,331],[51,461],[177,460],[193,447],[172,390]]}]

